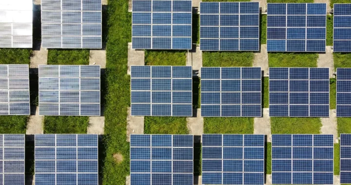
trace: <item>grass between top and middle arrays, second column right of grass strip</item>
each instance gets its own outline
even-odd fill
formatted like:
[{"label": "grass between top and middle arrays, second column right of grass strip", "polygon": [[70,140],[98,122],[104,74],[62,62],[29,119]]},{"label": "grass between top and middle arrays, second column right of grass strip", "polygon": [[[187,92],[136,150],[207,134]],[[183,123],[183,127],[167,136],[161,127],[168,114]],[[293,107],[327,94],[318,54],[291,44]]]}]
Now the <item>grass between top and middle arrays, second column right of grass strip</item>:
[{"label": "grass between top and middle arrays, second column right of grass strip", "polygon": [[202,52],[203,67],[251,67],[253,52]]}]

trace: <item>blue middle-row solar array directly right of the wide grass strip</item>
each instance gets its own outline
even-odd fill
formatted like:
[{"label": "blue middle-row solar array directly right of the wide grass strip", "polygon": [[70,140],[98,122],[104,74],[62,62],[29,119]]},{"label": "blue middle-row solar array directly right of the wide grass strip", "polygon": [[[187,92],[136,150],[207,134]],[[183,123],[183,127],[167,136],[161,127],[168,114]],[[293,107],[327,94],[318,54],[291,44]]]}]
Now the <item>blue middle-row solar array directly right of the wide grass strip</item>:
[{"label": "blue middle-row solar array directly right of the wide grass strip", "polygon": [[133,116],[192,116],[191,66],[131,66]]}]

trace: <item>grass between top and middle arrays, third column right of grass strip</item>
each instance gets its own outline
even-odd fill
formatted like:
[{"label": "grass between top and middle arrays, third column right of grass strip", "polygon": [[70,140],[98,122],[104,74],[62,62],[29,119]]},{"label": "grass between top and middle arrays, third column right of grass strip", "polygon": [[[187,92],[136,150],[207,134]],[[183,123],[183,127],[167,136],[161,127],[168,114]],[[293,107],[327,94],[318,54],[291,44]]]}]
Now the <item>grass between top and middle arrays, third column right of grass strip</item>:
[{"label": "grass between top and middle arrays, third column right of grass strip", "polygon": [[315,53],[268,53],[269,67],[317,67]]}]

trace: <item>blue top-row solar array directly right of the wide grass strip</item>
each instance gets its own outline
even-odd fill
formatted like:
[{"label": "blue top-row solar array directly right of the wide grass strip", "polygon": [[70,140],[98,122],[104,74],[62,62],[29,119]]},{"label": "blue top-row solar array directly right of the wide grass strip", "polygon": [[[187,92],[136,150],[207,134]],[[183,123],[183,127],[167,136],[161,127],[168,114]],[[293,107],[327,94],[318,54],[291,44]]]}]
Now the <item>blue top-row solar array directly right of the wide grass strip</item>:
[{"label": "blue top-row solar array directly right of the wide grass strip", "polygon": [[191,0],[133,0],[133,49],[192,49]]}]

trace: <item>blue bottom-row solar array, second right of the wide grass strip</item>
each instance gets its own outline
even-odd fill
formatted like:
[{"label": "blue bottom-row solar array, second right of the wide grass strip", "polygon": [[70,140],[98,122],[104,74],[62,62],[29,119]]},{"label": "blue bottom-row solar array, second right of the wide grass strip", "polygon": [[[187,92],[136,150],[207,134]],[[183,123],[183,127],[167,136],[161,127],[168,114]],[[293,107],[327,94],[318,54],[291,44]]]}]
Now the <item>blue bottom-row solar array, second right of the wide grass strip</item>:
[{"label": "blue bottom-row solar array, second right of the wide grass strip", "polygon": [[203,134],[203,185],[263,185],[264,135]]}]

